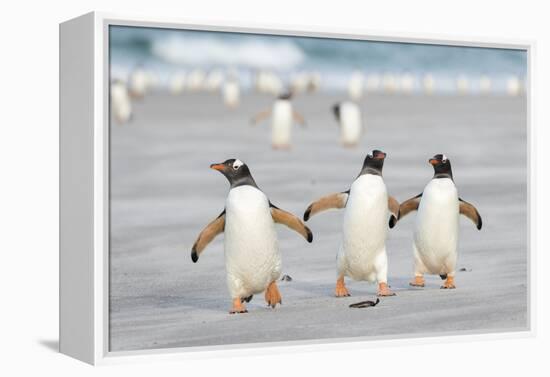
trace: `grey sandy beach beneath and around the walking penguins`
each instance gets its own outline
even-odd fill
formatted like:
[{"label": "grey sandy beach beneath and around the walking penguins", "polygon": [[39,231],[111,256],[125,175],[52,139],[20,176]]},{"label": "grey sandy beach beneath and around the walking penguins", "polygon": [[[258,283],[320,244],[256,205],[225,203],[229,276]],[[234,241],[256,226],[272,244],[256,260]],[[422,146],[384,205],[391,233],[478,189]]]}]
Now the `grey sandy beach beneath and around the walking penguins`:
[{"label": "grey sandy beach beneath and around the walking penguins", "polygon": [[[245,95],[235,110],[216,94],[157,93],[133,103],[132,122],[111,126],[110,350],[278,341],[341,340],[528,326],[527,135],[524,97],[368,95],[361,101],[366,134],[344,149],[330,106],[344,95],[301,95],[296,109],[307,126],[293,129],[289,151],[274,151],[268,122],[250,118],[270,106]],[[333,297],[343,211],[308,222],[314,241],[277,226],[283,305],[263,295],[249,313],[229,315],[223,236],[197,264],[190,251],[201,229],[224,207],[226,179],[209,165],[228,158],[248,164],[277,206],[302,216],[324,194],[344,191],[367,152],[387,152],[384,179],[404,201],[433,175],[429,157],[445,153],[459,195],[483,217],[478,231],[461,219],[456,290],[437,276],[424,289],[412,277],[414,214],[389,233],[388,282],[397,293],[378,306],[376,286],[347,280],[352,297]],[[362,338],[364,339],[364,338]]]}]

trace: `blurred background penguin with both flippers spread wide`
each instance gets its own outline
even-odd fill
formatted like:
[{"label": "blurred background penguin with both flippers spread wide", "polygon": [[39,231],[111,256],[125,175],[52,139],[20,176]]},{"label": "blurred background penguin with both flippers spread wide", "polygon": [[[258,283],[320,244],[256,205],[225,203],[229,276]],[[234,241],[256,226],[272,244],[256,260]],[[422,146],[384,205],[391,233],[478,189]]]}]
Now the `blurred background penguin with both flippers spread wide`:
[{"label": "blurred background penguin with both flippers spread wide", "polygon": [[273,149],[289,149],[292,125],[294,122],[305,127],[305,120],[300,113],[292,108],[292,91],[287,91],[275,100],[273,107],[259,112],[251,120],[254,125],[269,116],[271,122],[271,146]]}]

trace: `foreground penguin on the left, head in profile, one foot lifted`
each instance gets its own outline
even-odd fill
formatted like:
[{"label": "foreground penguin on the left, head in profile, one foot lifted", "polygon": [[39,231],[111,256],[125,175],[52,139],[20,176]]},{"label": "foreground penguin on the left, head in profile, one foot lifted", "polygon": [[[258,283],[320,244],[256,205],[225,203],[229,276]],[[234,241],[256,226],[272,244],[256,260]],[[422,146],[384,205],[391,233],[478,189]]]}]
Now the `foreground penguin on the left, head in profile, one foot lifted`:
[{"label": "foreground penguin on the left, head in profile, one foot lifted", "polygon": [[269,201],[240,160],[230,159],[210,167],[221,172],[231,187],[225,209],[199,234],[191,259],[197,262],[208,243],[225,232],[227,285],[233,300],[230,313],[246,313],[244,302],[263,291],[267,304],[274,308],[281,303],[276,284],[281,275],[281,255],[275,223],[288,226],[308,242],[313,235],[299,218]]}]

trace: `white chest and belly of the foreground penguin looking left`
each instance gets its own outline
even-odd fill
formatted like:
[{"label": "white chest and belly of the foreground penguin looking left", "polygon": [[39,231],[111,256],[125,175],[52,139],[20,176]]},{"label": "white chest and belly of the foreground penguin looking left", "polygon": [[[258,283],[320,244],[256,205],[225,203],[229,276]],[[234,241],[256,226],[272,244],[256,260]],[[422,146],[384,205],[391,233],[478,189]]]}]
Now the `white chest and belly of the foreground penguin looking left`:
[{"label": "white chest and belly of the foreground penguin looking left", "polygon": [[281,272],[269,201],[252,186],[229,191],[225,205],[225,264],[233,297],[265,290]]}]

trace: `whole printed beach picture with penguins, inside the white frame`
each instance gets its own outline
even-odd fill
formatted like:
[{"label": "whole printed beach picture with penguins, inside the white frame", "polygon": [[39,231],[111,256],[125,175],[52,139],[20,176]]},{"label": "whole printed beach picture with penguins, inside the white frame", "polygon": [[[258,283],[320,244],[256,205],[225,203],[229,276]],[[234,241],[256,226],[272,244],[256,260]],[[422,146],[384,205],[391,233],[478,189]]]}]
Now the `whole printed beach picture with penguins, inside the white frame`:
[{"label": "whole printed beach picture with penguins, inside the white frame", "polygon": [[528,328],[525,50],[108,32],[110,351]]}]

